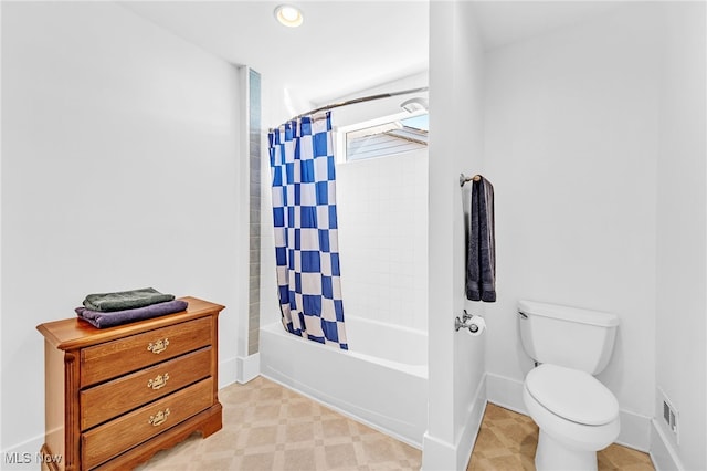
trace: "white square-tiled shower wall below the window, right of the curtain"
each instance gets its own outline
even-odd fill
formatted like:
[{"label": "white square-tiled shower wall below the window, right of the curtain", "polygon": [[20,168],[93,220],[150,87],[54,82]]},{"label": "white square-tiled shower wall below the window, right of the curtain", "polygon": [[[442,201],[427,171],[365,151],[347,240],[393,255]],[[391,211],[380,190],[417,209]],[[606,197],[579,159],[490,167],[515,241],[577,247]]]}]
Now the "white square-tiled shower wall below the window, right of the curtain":
[{"label": "white square-tiled shower wall below the window, right of the curtain", "polygon": [[337,165],[345,315],[428,329],[428,150]]}]

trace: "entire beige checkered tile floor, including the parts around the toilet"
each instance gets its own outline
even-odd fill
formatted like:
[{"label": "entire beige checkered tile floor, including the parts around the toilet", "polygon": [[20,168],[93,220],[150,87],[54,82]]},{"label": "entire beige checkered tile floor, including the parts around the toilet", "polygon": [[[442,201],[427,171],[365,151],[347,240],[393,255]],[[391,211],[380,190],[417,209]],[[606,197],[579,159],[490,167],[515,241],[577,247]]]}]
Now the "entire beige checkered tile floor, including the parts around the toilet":
[{"label": "entire beige checkered tile floor, including the parts around the toilet", "polygon": [[[422,452],[263,377],[219,391],[223,429],[194,433],[160,451],[140,471],[419,470]],[[529,417],[489,404],[467,471],[532,470],[537,427]],[[599,470],[653,470],[624,447],[599,454]]]}]

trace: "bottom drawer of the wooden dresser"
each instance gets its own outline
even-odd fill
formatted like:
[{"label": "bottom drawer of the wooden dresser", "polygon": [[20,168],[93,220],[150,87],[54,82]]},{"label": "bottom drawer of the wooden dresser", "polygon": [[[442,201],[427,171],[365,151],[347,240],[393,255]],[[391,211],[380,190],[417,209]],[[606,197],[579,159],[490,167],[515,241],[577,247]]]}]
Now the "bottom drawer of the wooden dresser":
[{"label": "bottom drawer of the wooden dresser", "polygon": [[81,437],[83,468],[94,468],[212,405],[213,379],[207,378],[88,430]]}]

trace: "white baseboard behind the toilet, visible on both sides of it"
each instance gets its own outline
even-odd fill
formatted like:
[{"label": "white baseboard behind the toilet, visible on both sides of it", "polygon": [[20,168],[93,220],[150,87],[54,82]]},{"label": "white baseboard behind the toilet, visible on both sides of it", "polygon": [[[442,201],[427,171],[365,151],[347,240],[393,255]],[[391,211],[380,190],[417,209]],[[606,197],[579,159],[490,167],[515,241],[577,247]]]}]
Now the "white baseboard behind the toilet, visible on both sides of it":
[{"label": "white baseboard behind the toilet, visible on both sides of it", "polygon": [[[523,402],[523,381],[500,375],[486,374],[486,397],[489,402],[528,415]],[[647,452],[651,449],[651,418],[620,409],[621,432],[616,443]]]}]

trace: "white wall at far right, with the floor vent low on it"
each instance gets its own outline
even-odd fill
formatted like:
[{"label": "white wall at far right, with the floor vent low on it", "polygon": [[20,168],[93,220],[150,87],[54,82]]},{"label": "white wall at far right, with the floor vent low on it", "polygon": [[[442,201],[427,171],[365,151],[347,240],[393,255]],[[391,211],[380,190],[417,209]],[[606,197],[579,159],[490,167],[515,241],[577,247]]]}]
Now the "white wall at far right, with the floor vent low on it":
[{"label": "white wall at far right, with the floor vent low on it", "polygon": [[[656,386],[679,412],[676,437],[654,414],[686,470],[707,469],[707,292],[704,2],[664,7],[665,63],[657,161]],[[658,457],[662,459],[664,457]]]}]

